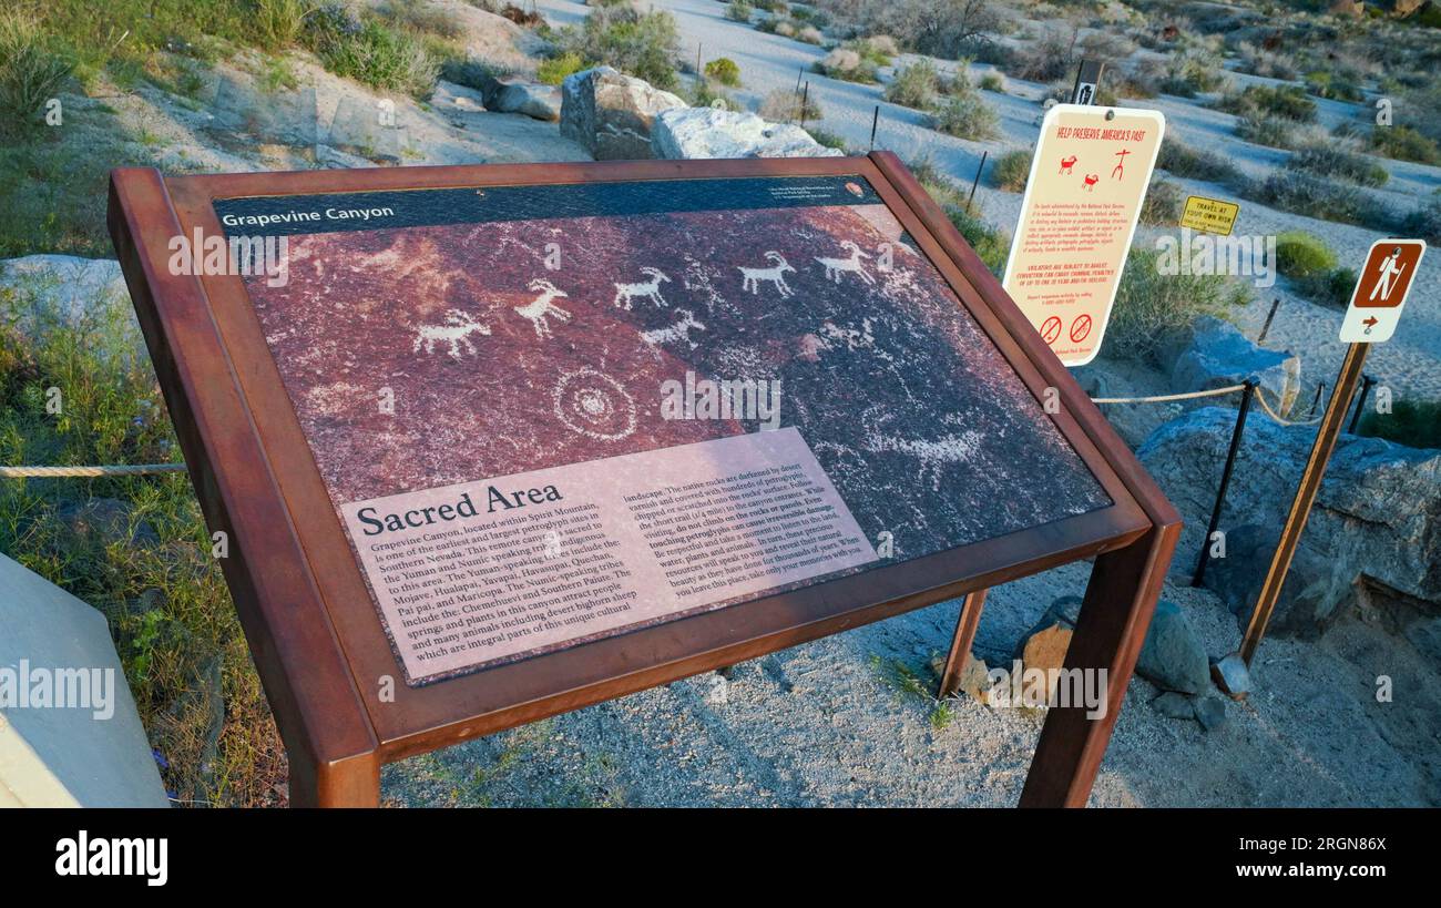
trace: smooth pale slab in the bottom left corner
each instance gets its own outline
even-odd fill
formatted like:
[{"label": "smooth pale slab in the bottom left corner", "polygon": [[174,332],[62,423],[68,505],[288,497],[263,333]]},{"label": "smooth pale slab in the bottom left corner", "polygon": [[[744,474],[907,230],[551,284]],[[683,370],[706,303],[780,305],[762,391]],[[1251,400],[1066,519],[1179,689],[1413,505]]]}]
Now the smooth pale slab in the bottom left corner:
[{"label": "smooth pale slab in the bottom left corner", "polygon": [[0,589],[0,672],[99,669],[110,679],[107,718],[98,700],[19,705],[0,685],[0,806],[167,807],[105,618],[4,555]]}]

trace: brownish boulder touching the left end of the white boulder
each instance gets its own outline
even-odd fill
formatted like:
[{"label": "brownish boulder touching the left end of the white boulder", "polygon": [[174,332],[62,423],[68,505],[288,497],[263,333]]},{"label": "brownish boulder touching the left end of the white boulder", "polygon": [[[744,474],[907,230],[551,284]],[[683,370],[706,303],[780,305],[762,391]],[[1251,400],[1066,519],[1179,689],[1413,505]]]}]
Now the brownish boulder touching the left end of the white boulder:
[{"label": "brownish boulder touching the left end of the white boulder", "polygon": [[584,69],[561,85],[561,134],[598,161],[654,157],[656,115],[686,102],[610,66]]}]

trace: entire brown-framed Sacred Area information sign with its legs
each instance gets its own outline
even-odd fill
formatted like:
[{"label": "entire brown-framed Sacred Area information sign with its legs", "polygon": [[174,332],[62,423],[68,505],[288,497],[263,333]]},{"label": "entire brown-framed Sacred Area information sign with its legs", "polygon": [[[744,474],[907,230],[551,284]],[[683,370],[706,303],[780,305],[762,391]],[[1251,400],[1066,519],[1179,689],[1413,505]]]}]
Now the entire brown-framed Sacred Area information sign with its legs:
[{"label": "entire brown-framed Sacred Area information sign with its legs", "polygon": [[893,154],[117,170],[110,226],[294,803],[1097,556],[1107,709],[1020,798],[1085,803],[1180,523]]}]

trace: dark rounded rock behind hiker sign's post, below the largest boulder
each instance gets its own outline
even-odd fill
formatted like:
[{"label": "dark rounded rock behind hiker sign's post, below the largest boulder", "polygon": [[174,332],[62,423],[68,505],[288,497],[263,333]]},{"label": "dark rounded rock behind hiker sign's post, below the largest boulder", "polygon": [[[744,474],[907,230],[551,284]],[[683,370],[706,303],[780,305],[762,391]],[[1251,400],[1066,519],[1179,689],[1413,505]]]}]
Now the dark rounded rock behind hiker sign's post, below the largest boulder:
[{"label": "dark rounded rock behind hiker sign's post, below the largest boulder", "polygon": [[[1251,621],[1278,536],[1278,530],[1255,523],[1239,526],[1226,533],[1226,556],[1206,565],[1206,587],[1225,600],[1242,628]],[[1347,577],[1350,569],[1313,548],[1298,546],[1267,623],[1267,634],[1320,637],[1356,608],[1356,572]]]}]

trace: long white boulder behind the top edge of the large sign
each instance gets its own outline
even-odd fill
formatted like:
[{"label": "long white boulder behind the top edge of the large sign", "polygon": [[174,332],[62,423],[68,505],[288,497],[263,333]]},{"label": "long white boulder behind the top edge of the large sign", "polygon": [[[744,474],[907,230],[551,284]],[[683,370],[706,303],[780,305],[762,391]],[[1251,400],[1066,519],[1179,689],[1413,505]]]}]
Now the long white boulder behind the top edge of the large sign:
[{"label": "long white boulder behind the top edge of the large sign", "polygon": [[656,117],[651,144],[656,157],[837,157],[806,130],[784,123],[767,123],[757,114],[713,107],[687,107]]}]

